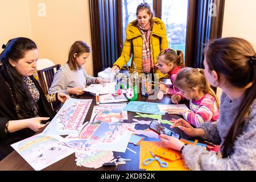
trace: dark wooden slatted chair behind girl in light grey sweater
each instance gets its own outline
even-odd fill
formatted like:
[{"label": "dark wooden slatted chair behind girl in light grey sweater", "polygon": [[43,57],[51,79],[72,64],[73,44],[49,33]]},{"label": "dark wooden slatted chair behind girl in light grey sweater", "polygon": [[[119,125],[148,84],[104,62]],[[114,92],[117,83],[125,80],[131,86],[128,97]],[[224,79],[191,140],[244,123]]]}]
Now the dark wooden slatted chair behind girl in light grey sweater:
[{"label": "dark wooden slatted chair behind girl in light grey sweater", "polygon": [[[56,64],[52,67],[38,70],[38,78],[41,88],[44,94],[48,94],[48,90],[52,85],[53,77],[55,72],[60,68],[60,64]],[[60,109],[60,102],[52,102],[52,109],[57,112]]]}]

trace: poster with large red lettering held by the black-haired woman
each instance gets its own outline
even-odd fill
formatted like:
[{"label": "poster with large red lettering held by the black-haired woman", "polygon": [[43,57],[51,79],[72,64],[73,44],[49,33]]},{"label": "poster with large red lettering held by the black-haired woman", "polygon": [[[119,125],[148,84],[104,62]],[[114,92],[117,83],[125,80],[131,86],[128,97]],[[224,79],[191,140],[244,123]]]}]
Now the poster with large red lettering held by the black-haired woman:
[{"label": "poster with large red lettering held by the black-haired woman", "polygon": [[43,131],[43,135],[77,134],[80,131],[82,123],[84,123],[91,103],[92,99],[81,100],[69,98]]}]

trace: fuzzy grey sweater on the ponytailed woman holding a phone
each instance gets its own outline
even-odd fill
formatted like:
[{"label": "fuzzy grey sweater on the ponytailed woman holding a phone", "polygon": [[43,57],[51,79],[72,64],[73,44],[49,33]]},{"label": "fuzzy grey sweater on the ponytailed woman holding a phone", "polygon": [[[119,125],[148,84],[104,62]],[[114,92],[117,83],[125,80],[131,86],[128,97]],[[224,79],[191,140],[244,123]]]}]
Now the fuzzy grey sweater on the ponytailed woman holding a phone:
[{"label": "fuzzy grey sweater on the ponytailed woman holding a phone", "polygon": [[[225,93],[222,94],[219,120],[197,127],[205,130],[205,140],[214,144],[224,142],[241,101],[242,98],[231,102]],[[182,155],[191,170],[256,170],[256,99],[250,106],[245,125],[238,130],[234,147],[228,147],[227,154],[228,158],[221,158],[216,152],[189,145],[184,147]]]}]

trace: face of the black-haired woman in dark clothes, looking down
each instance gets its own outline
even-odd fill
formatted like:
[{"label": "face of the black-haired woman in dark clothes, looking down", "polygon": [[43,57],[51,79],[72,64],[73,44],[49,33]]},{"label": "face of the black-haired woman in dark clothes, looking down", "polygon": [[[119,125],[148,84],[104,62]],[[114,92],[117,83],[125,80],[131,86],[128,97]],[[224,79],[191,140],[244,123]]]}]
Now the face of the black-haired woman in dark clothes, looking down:
[{"label": "face of the black-haired woman in dark clothes, looking down", "polygon": [[36,61],[38,60],[38,49],[32,49],[25,52],[25,56],[18,61],[9,60],[10,64],[20,73],[22,76],[31,76],[36,69]]}]

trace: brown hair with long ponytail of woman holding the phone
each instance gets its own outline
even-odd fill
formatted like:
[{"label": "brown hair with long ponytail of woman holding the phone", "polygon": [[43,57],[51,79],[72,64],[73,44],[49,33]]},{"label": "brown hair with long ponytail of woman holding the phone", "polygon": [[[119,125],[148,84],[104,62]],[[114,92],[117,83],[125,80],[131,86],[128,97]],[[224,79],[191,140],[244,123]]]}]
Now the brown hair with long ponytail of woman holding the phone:
[{"label": "brown hair with long ponytail of woman holding the phone", "polygon": [[[246,88],[236,118],[223,143],[223,158],[227,158],[228,146],[234,146],[238,129],[243,126],[256,97],[255,51],[249,42],[241,38],[216,39],[205,48],[209,71],[222,74],[229,84]],[[250,85],[251,84],[251,85]]]}]

